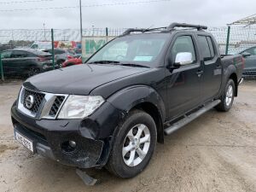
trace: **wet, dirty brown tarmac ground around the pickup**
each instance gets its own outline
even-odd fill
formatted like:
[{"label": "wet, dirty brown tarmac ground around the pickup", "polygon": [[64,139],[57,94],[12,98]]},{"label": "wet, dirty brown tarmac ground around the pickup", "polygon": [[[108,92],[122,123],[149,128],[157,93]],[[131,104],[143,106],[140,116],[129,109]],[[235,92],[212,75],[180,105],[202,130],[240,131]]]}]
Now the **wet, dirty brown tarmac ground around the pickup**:
[{"label": "wet, dirty brown tarmac ground around the pickup", "polygon": [[256,192],[256,81],[239,88],[229,113],[214,109],[157,144],[147,169],[131,179],[90,170],[85,186],[75,169],[15,142],[9,110],[20,81],[0,83],[0,191],[254,191]]}]

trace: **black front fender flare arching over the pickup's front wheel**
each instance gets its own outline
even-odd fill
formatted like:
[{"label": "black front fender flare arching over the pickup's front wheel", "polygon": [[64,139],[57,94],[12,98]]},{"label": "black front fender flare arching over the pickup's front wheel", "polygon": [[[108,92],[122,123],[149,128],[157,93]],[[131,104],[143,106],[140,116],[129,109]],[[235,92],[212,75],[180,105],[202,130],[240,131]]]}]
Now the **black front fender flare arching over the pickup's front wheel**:
[{"label": "black front fender flare arching over the pickup's front wheel", "polygon": [[118,108],[125,113],[128,113],[131,108],[134,108],[140,103],[150,102],[160,113],[162,122],[166,119],[165,104],[156,90],[147,85],[133,85],[123,90],[119,90],[107,100],[114,108]]}]

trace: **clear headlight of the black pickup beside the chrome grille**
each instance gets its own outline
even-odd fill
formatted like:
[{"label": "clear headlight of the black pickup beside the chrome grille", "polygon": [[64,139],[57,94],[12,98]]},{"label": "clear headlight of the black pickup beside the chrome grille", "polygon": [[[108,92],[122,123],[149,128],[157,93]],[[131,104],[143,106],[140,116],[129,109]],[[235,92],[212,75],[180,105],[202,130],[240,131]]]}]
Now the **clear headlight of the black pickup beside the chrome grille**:
[{"label": "clear headlight of the black pickup beside the chrome grille", "polygon": [[99,108],[104,101],[102,96],[68,96],[58,119],[83,119]]}]

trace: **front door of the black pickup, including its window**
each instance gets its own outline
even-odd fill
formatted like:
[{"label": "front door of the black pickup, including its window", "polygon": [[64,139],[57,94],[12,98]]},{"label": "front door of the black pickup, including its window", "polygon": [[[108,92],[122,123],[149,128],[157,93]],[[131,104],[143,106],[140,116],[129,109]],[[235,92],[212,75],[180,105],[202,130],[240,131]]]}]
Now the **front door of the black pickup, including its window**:
[{"label": "front door of the black pickup, including its window", "polygon": [[169,99],[168,117],[173,119],[197,107],[201,103],[201,62],[195,37],[191,33],[179,32],[173,38],[167,55],[174,63],[177,53],[189,52],[193,63],[174,69],[166,70],[167,96]]}]

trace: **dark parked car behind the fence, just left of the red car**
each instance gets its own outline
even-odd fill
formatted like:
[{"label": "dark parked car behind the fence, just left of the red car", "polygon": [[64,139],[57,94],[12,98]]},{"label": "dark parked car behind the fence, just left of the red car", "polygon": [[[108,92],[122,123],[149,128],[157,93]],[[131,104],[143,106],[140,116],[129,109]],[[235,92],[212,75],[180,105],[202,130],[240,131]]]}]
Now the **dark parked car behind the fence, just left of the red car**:
[{"label": "dark parked car behind the fence, just left of the red car", "polygon": [[[44,52],[48,52],[52,54],[52,49],[45,49]],[[61,64],[64,61],[67,61],[69,59],[73,59],[76,57],[79,57],[79,56],[71,49],[55,48],[55,62],[59,67],[61,67]]]}]

